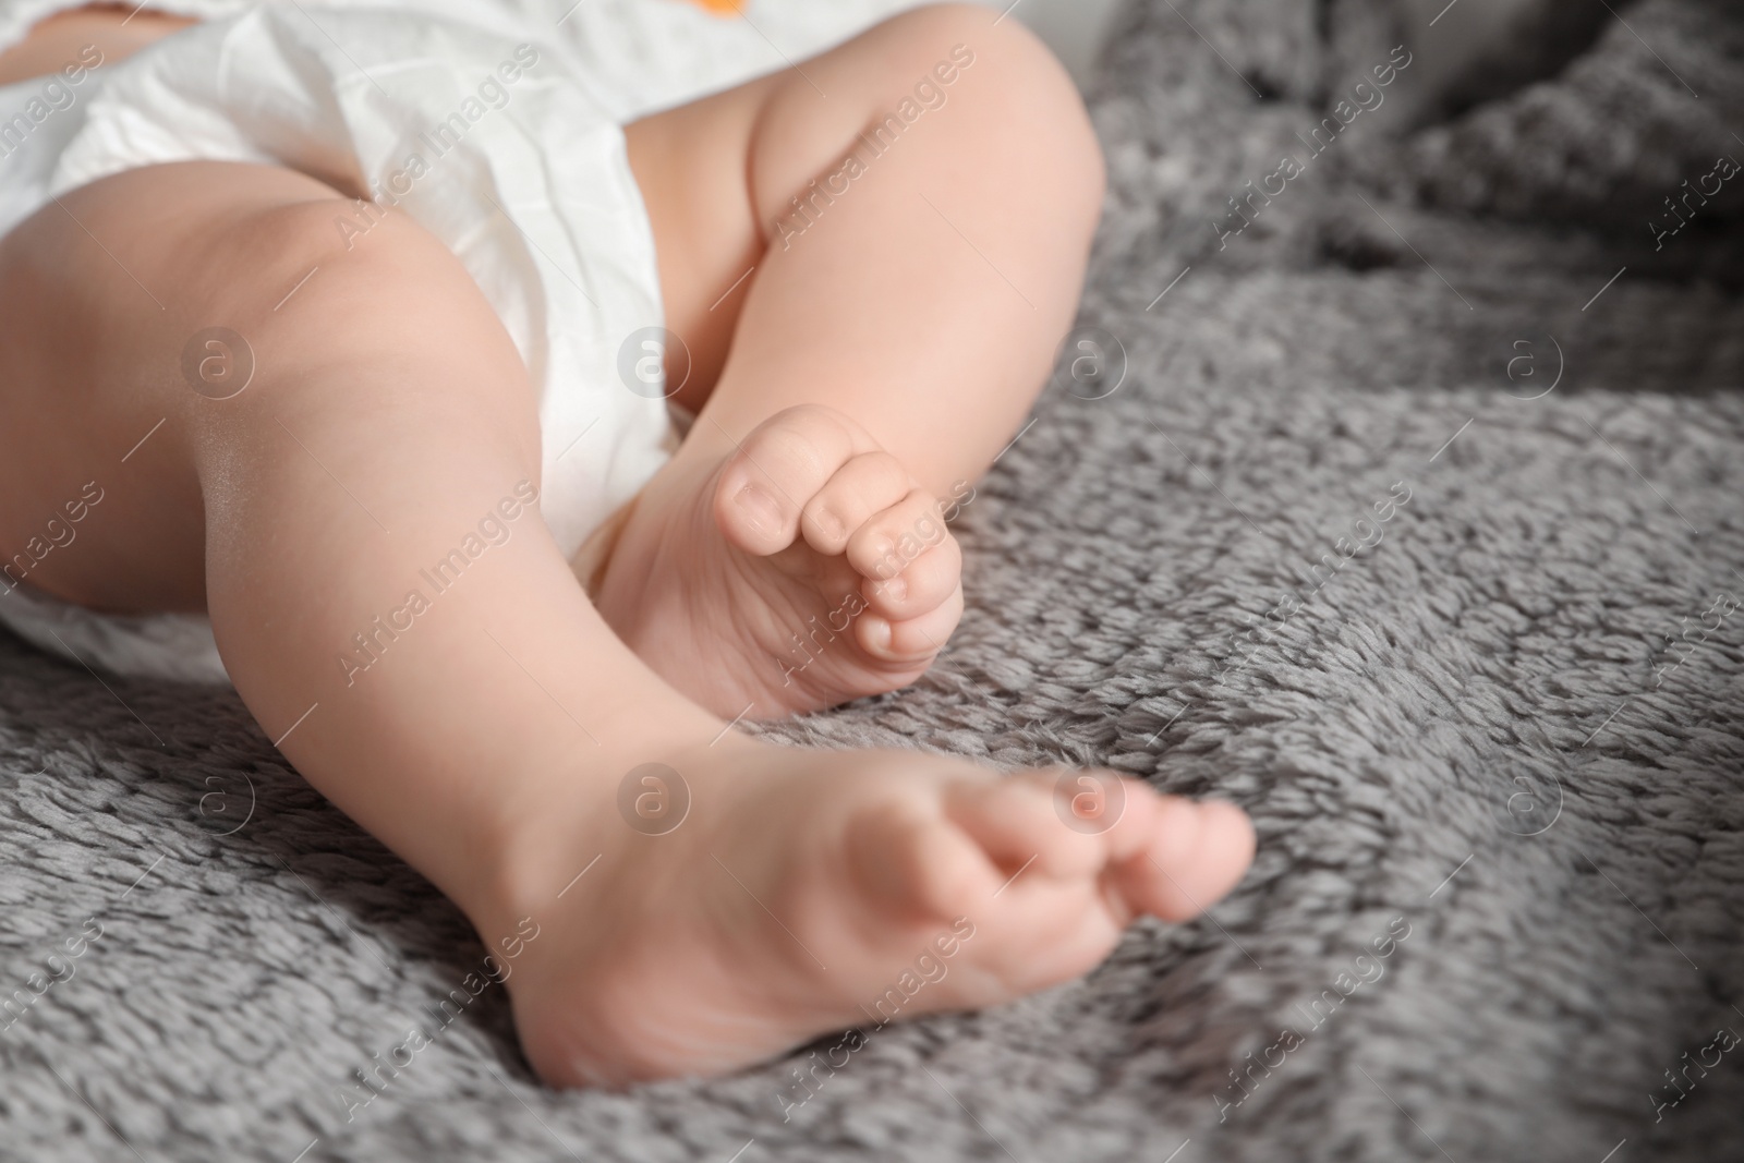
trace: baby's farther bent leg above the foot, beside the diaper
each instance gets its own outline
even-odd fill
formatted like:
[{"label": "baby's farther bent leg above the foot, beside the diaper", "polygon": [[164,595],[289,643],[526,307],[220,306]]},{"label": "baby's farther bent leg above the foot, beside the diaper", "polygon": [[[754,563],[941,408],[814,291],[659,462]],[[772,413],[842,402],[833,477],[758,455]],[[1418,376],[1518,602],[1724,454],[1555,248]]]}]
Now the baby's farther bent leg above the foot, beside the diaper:
[{"label": "baby's farther bent leg above the foot, beside the diaper", "polygon": [[1078,310],[1102,207],[1083,103],[1018,21],[917,9],[628,136],[668,326],[698,356],[680,403],[738,438],[830,405],[938,495],[985,471]]}]

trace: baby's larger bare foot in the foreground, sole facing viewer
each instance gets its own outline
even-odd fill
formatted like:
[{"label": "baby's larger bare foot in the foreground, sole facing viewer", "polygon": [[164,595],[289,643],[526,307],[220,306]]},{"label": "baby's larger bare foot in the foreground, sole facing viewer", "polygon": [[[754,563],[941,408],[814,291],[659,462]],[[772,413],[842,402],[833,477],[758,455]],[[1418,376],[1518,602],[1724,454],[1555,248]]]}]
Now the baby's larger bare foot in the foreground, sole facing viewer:
[{"label": "baby's larger bare foot in the foreground, sole facing viewer", "polygon": [[[605,806],[546,833],[565,858],[527,903],[539,940],[508,985],[553,1085],[719,1074],[855,1027],[807,1064],[828,1074],[893,1018],[1080,976],[1141,914],[1181,921],[1228,893],[1254,849],[1240,809],[1106,772],[1120,793],[1092,832],[1066,825],[1059,772],[741,736],[668,758],[691,795],[671,832]],[[807,1093],[771,1100],[788,1116]]]}]

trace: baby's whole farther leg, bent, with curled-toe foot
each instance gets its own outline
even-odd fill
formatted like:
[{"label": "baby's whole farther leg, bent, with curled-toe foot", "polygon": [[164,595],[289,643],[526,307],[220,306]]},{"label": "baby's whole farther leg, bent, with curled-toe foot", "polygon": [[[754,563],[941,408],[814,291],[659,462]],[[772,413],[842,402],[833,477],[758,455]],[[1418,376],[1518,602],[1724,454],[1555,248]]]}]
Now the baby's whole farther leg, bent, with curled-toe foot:
[{"label": "baby's whole farther leg, bent, with curled-toe foot", "polygon": [[963,607],[937,502],[1017,432],[1078,303],[1102,159],[1071,80],[942,5],[630,146],[703,408],[602,612],[726,717],[912,682]]}]

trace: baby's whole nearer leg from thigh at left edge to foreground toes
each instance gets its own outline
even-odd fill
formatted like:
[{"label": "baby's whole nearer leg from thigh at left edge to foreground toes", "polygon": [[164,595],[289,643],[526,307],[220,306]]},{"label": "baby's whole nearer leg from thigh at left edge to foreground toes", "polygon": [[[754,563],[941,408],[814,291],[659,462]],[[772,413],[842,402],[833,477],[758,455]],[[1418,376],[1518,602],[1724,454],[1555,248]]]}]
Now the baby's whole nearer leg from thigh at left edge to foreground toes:
[{"label": "baby's whole nearer leg from thigh at left edge to foreground toes", "polygon": [[[204,602],[296,769],[516,954],[548,1079],[724,1071],[998,1003],[1240,877],[1252,833],[1228,806],[1123,783],[1125,811],[1078,830],[1052,774],[774,748],[678,697],[513,504],[539,432],[483,296],[405,218],[347,251],[347,207],[277,169],[162,166],[0,241],[0,551],[63,485],[112,481],[33,581]],[[255,359],[221,401],[180,371],[215,323]],[[488,547],[433,584],[469,537]],[[917,989],[923,954],[949,971]]]}]

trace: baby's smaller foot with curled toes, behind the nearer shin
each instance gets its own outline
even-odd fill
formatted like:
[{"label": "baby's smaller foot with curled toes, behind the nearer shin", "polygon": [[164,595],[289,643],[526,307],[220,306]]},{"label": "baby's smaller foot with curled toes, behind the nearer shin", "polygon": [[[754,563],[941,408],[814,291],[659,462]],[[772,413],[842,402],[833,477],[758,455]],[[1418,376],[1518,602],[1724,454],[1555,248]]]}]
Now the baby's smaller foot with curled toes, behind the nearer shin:
[{"label": "baby's smaller foot with curled toes, behind the nearer shin", "polygon": [[963,554],[938,500],[865,429],[788,408],[698,460],[680,452],[637,497],[596,584],[644,663],[722,718],[926,671],[963,614]]}]

